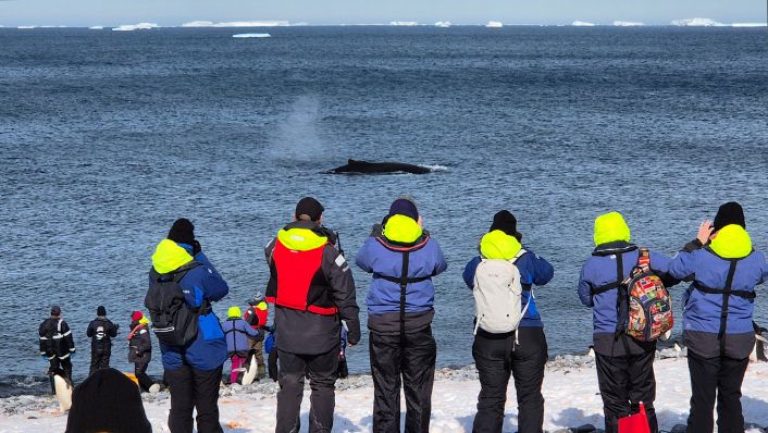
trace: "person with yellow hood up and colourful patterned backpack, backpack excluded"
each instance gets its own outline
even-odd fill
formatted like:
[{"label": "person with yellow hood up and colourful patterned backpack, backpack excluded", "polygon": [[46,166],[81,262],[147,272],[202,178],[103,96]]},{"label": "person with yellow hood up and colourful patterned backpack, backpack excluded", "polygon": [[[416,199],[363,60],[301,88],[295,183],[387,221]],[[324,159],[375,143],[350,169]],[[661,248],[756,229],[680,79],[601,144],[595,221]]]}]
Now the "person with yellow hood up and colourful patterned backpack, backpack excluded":
[{"label": "person with yellow hood up and colourful patterned backpack, backpack excluded", "polygon": [[[637,264],[639,249],[630,244],[630,228],[619,212],[595,219],[595,249],[579,276],[579,298],[593,311],[593,344],[597,383],[603,397],[606,433],[617,433],[619,418],[639,411],[645,405],[651,432],[658,432],[654,409],[656,342],[640,342],[624,332],[618,320],[618,286]],[[651,270],[666,287],[670,279],[669,258],[649,251]]]}]

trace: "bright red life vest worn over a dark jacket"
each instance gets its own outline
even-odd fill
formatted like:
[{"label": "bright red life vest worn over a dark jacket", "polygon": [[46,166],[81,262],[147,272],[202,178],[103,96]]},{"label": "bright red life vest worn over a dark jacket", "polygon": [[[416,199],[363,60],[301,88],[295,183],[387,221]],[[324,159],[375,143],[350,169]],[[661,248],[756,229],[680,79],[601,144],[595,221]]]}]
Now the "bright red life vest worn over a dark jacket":
[{"label": "bright red life vest worn over a dark jacket", "polygon": [[271,270],[277,281],[276,293],[267,301],[294,310],[334,316],[338,309],[329,296],[329,282],[321,269],[325,245],[297,251],[277,239],[272,252]]}]

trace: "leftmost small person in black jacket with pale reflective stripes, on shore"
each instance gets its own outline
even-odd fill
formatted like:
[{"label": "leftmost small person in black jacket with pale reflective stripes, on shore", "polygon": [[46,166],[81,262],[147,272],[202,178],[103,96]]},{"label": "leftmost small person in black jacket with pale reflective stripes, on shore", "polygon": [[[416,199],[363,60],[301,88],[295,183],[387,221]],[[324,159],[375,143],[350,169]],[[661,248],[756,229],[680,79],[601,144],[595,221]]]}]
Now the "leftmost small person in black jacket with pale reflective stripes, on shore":
[{"label": "leftmost small person in black jacket with pale reflective stripes, on shore", "polygon": [[75,354],[75,341],[70,326],[61,318],[61,308],[51,307],[51,317],[40,323],[40,356],[51,363],[48,370],[62,369],[72,381],[72,355]]}]

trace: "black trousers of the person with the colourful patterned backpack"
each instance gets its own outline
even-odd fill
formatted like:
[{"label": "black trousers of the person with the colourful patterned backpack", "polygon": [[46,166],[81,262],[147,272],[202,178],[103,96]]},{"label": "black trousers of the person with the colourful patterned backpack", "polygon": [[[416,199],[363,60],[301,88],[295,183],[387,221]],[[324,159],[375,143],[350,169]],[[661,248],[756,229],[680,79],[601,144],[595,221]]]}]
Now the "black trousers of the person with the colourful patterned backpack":
[{"label": "black trousers of the person with the colourful patterned backpack", "polygon": [[623,357],[595,355],[606,433],[617,433],[619,418],[637,413],[641,401],[645,405],[651,433],[658,432],[656,410],[654,409],[654,400],[656,399],[655,356],[656,350]]}]

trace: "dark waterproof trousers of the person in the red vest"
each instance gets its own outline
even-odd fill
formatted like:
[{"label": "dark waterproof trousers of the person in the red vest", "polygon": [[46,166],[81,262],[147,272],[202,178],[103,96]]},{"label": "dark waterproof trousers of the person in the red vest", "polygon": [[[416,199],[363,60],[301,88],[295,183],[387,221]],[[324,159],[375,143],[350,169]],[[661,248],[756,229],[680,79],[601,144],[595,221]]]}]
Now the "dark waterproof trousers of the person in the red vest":
[{"label": "dark waterproof trousers of the person in the red vest", "polygon": [[298,433],[305,376],[312,393],[309,397],[310,433],[330,433],[336,406],[338,346],[320,355],[299,355],[278,350],[280,391],[275,433]]}]

